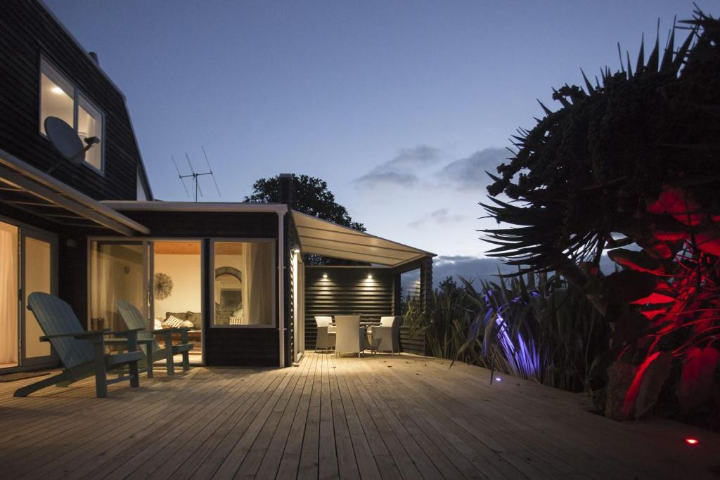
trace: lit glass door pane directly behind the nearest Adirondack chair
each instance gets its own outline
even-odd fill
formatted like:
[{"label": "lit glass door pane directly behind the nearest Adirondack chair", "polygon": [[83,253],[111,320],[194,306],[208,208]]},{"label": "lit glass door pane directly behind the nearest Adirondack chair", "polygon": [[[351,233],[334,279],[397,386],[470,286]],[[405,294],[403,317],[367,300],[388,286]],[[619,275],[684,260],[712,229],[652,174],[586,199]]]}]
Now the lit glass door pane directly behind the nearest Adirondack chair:
[{"label": "lit glass door pane directly behind the nearest Adirondack chair", "polygon": [[[35,291],[54,294],[53,261],[55,257],[54,241],[45,235],[32,231],[23,231],[22,239],[22,292],[23,304]],[[50,343],[41,342],[45,335],[37,323],[35,315],[27,308],[22,309],[23,317],[23,358],[24,362],[37,363],[45,361],[52,353]]]}]

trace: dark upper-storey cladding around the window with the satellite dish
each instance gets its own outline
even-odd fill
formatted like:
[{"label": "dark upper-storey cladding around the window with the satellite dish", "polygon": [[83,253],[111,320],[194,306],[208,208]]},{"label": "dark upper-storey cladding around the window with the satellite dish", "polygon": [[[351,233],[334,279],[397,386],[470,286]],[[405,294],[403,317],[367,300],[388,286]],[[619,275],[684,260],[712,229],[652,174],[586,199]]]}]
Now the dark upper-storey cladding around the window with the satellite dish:
[{"label": "dark upper-storey cladding around the window with the satellite dish", "polygon": [[39,132],[42,54],[102,110],[105,122],[104,176],[68,162],[53,176],[94,199],[134,200],[140,154],[120,91],[37,1],[0,2],[0,32],[0,149],[42,171],[58,159]]}]

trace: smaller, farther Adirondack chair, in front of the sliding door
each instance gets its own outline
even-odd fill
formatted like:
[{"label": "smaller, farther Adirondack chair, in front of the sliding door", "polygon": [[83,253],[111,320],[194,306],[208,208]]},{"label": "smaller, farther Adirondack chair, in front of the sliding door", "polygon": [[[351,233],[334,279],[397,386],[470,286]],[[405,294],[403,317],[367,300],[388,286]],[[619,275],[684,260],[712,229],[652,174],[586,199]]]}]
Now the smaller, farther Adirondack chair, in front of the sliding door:
[{"label": "smaller, farther Adirondack chair, in front of the sliding door", "polygon": [[[140,310],[135,305],[125,302],[125,300],[117,301],[117,311],[128,328],[140,329],[138,331],[138,343],[140,350],[145,355],[145,361],[148,363],[148,378],[153,378],[153,363],[158,360],[165,360],[168,375],[175,374],[174,356],[182,354],[182,369],[188,371],[190,369],[190,350],[192,343],[188,341],[189,328],[161,328],[160,330],[148,330],[148,321],[145,320]],[[181,343],[173,345],[173,333],[179,332]],[[165,347],[160,348],[155,334],[161,333],[165,340]]]}]

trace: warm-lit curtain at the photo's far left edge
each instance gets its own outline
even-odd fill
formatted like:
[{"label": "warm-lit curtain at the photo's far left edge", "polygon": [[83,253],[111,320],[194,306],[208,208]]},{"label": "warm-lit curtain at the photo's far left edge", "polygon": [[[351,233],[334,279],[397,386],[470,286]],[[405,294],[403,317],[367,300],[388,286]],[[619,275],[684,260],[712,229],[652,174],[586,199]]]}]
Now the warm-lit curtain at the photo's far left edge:
[{"label": "warm-lit curtain at the photo's far left edge", "polygon": [[17,227],[0,225],[0,363],[17,363]]}]

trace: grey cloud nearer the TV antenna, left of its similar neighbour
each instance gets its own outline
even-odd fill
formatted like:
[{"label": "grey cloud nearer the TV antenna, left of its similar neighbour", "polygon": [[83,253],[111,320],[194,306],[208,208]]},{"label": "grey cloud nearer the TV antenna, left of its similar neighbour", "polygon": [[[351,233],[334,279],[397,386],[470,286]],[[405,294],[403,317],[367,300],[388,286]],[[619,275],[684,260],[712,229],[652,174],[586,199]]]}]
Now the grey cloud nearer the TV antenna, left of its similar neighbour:
[{"label": "grey cloud nearer the TV antenna, left of its similar neighbour", "polygon": [[418,184],[419,178],[415,173],[410,172],[433,166],[440,159],[441,150],[428,145],[402,148],[394,158],[356,178],[354,183],[366,187],[381,185],[412,187]]}]

